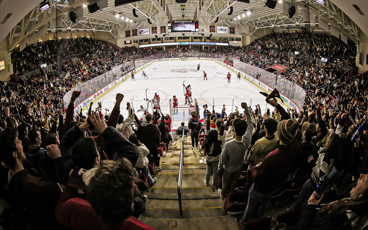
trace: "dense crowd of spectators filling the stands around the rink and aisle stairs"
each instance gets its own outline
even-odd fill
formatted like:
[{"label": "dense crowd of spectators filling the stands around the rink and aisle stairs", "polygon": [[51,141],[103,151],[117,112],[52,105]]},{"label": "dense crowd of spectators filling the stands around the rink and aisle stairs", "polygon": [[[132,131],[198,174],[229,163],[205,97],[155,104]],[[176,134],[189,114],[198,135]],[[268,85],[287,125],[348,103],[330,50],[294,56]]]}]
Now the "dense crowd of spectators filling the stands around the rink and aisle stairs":
[{"label": "dense crowd of spectators filling the stands around the rink and aisle stairs", "polygon": [[[335,42],[333,37],[320,35],[311,35],[311,50],[304,50],[304,37],[302,34],[272,34],[248,47],[205,48],[205,52],[226,56],[227,61],[239,58],[260,68],[284,64],[287,68],[279,72],[279,76],[301,85],[308,94],[300,112],[285,111],[277,101],[267,98],[270,109],[263,112],[259,105],[252,105],[255,106],[253,110],[246,103],[241,105],[243,113],[236,109],[226,114],[225,105],[221,113],[210,112],[203,106],[204,121],[200,119],[196,104],[196,111],[192,112],[188,123],[192,148],[203,150],[211,163],[207,167],[205,186],[210,184],[211,172],[213,185],[217,173],[220,175],[220,197],[235,191],[237,180],[245,169],[249,198],[244,216],[237,220],[240,225],[261,217],[270,197],[285,182],[311,175],[292,208],[301,208],[320,177],[324,176],[326,190],[335,191],[336,200],[351,197],[352,204],[351,208],[340,201],[337,206],[328,204],[317,212],[320,214],[318,220],[324,220],[323,226],[332,226],[331,229],[341,224],[362,227],[368,218],[368,213],[359,208],[368,202],[368,185],[363,185],[368,173],[368,73],[341,78],[343,71],[338,66],[319,66],[289,57],[287,53],[265,49],[277,47],[290,52],[296,47],[305,55],[345,55],[348,59],[353,55],[346,45]],[[285,42],[287,39],[293,46]],[[0,85],[0,109],[4,111],[0,116],[0,159],[3,163],[0,194],[10,205],[7,212],[10,216],[15,215],[5,224],[15,224],[18,228],[28,225],[34,229],[59,229],[62,225],[78,229],[107,226],[151,229],[136,219],[144,212],[147,197],[140,194],[134,183],[140,183],[137,172],[147,176],[149,186],[156,182],[150,177],[148,165],[161,169],[157,147],[164,142],[169,148],[173,141],[169,129],[171,118],[157,110],[140,120],[127,103],[129,116],[125,119],[119,114],[124,97],[120,94],[107,117],[102,115],[101,104],[97,111],[91,111],[90,105],[87,118],[83,114],[74,116],[74,101],[80,92],[73,92],[67,106],[63,105],[62,96],[80,82],[101,75],[124,61],[153,54],[163,57],[165,52],[169,57],[177,56],[183,51],[177,48],[167,51],[121,49],[107,42],[89,40],[69,39],[71,45],[61,56],[75,54],[73,45],[93,43],[97,48],[91,48],[87,51],[88,56],[76,62],[66,61],[62,70],[41,70],[27,78],[24,84],[2,82]],[[50,55],[49,51],[65,45],[65,41],[31,45],[15,53],[14,66],[17,66],[18,74],[33,70],[32,66],[44,61],[57,61],[58,56]],[[326,47],[328,44],[330,48]],[[195,55],[200,52],[203,51],[193,48],[186,53]],[[96,57],[91,57],[95,53]],[[125,66],[123,72],[127,73],[133,67]],[[66,74],[60,75],[60,72]],[[182,129],[186,128],[184,125]],[[360,125],[360,135],[351,141]],[[201,129],[208,134],[202,146],[198,140]],[[278,173],[274,173],[276,171]],[[116,175],[121,176],[117,178]],[[106,194],[112,188],[119,193],[106,200]],[[99,202],[102,199],[106,203]],[[310,221],[305,223],[301,218],[295,229],[301,229],[301,226],[308,229],[317,224],[313,217],[320,200],[314,196],[309,198],[308,204],[311,205],[303,209],[303,215]],[[342,211],[338,213],[332,209]],[[53,210],[55,215],[52,215]],[[349,210],[350,215],[344,215]],[[331,215],[340,217],[340,221],[330,221]]]}]

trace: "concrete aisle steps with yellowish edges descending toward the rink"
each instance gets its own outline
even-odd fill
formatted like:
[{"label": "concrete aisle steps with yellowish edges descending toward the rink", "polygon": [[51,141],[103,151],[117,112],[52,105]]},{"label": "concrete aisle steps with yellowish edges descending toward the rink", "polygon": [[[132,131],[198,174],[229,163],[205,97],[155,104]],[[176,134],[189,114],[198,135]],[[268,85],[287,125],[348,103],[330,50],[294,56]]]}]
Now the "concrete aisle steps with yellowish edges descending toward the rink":
[{"label": "concrete aisle steps with yellowish edges descending toward the rink", "polygon": [[[162,170],[156,174],[157,182],[146,193],[146,212],[140,220],[154,229],[239,229],[235,217],[222,216],[224,200],[214,187],[205,187],[206,166],[200,163],[199,150],[192,150],[188,137],[184,144],[182,177],[182,210],[179,213],[177,177],[179,173],[181,142],[174,134],[174,146],[161,158]],[[212,177],[210,180],[212,183]]]}]

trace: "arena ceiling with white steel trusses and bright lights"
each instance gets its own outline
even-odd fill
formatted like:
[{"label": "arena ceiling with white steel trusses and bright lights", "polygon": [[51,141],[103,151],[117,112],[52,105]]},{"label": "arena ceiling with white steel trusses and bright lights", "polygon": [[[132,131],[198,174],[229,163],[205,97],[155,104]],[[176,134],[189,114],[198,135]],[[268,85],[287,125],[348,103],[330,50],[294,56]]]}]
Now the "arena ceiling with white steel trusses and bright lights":
[{"label": "arena ceiling with white steel trusses and bright lights", "polygon": [[[242,25],[253,27],[252,31],[257,31],[273,27],[318,27],[319,18],[322,18],[329,24],[329,29],[331,26],[338,28],[347,33],[350,39],[358,39],[358,27],[368,35],[368,1],[363,0],[326,0],[324,6],[316,4],[315,0],[280,0],[274,9],[265,8],[267,0],[250,0],[249,4],[233,0],[188,0],[184,4],[178,4],[175,0],[144,0],[117,7],[114,6],[115,0],[107,0],[107,4],[106,0],[69,0],[68,3],[64,0],[54,1],[50,0],[51,8],[42,12],[39,9],[40,0],[0,0],[0,21],[12,13],[7,21],[0,24],[0,39],[9,36],[9,50],[30,35],[37,36],[37,32],[44,32],[45,29],[46,32],[55,29],[105,31],[115,36],[114,30],[124,29],[134,23],[140,24],[148,19],[152,26],[165,24],[170,19],[196,19],[202,20],[204,25],[215,25],[218,17],[226,21],[240,21]],[[84,4],[94,2],[100,5],[100,10],[95,13],[83,7]],[[296,6],[297,12],[289,18],[287,11],[291,5]],[[353,5],[360,8],[360,13]],[[230,8],[233,8],[233,12],[228,15]],[[137,17],[133,15],[133,9]],[[68,17],[68,12],[72,10],[78,16],[77,24]],[[305,10],[315,15],[315,23],[311,24],[305,19]],[[117,14],[124,19],[117,17]]]}]

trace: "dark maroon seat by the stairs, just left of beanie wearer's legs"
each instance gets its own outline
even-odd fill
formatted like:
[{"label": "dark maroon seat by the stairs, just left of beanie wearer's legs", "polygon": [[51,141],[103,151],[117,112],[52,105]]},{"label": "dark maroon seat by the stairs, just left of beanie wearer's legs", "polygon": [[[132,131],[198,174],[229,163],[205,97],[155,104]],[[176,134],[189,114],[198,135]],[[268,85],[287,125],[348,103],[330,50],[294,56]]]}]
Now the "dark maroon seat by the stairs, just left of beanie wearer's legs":
[{"label": "dark maroon seat by the stairs, just left of beanie wearer's legs", "polygon": [[224,215],[227,216],[227,212],[245,211],[247,203],[248,191],[237,191],[234,193],[226,194],[224,203]]}]

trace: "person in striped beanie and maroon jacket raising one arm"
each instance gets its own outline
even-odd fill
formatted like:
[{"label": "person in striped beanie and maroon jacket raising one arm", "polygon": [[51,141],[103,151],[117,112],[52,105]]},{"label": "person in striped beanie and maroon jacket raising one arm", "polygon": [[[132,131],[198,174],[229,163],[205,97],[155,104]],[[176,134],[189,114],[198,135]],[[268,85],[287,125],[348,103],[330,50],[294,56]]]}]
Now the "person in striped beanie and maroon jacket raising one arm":
[{"label": "person in striped beanie and maroon jacket raising one arm", "polygon": [[280,111],[283,119],[277,126],[279,144],[251,170],[254,183],[249,189],[248,205],[243,217],[240,220],[236,219],[236,223],[241,226],[247,221],[263,216],[272,195],[287,178],[298,151],[295,136],[299,123],[295,119],[290,119],[290,115],[276,99],[266,101]]}]

